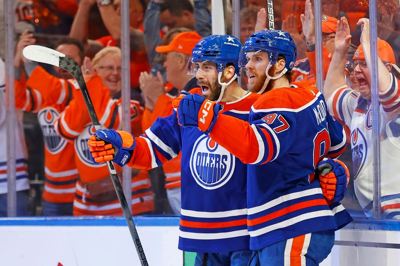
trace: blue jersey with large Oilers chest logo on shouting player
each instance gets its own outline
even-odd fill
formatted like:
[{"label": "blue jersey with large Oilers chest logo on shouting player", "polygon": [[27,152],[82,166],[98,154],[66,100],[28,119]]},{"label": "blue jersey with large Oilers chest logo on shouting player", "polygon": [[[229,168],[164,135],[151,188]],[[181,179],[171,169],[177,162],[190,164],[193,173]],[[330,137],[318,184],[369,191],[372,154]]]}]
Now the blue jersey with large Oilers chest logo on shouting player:
[{"label": "blue jersey with large Oilers chest logo on shouting player", "polygon": [[[235,102],[221,102],[221,112],[247,120],[257,98],[257,94],[247,93]],[[182,160],[178,248],[200,253],[248,250],[246,165],[197,128],[179,126],[175,111],[166,118],[158,118],[136,138],[128,165],[153,168],[174,158],[179,151]]]}]

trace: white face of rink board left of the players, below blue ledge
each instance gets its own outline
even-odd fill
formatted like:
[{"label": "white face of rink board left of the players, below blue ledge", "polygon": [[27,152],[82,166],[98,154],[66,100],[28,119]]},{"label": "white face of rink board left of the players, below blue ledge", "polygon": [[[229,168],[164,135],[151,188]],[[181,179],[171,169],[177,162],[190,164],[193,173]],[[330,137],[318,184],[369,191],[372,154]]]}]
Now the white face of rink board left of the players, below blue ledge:
[{"label": "white face of rink board left of the players, below blue ledge", "polygon": [[[177,226],[137,226],[150,266],[183,265]],[[1,266],[140,266],[127,226],[0,226]]]}]

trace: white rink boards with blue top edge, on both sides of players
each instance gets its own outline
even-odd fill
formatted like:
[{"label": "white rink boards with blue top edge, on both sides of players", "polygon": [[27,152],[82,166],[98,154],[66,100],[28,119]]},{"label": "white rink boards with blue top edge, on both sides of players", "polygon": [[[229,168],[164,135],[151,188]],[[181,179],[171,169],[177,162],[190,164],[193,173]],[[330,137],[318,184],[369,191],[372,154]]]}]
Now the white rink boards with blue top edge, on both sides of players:
[{"label": "white rink boards with blue top edge, on both sides of players", "polygon": [[[134,219],[150,266],[182,266],[177,249],[178,217]],[[373,230],[372,230],[373,229]],[[382,230],[376,230],[382,229]],[[400,223],[350,224],[336,232],[334,246],[320,266],[399,266],[400,249],[362,243],[400,244]],[[387,231],[385,231],[387,230]],[[0,266],[140,266],[123,218],[0,219]]]}]

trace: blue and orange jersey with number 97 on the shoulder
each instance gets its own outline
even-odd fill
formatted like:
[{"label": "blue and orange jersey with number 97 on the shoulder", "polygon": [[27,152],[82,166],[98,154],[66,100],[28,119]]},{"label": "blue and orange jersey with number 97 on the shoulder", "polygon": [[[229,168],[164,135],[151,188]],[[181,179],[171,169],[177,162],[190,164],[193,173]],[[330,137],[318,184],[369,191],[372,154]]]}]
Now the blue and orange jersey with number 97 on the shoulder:
[{"label": "blue and orange jersey with number 97 on the shoulder", "polygon": [[[248,163],[251,250],[336,230],[351,221],[340,203],[326,202],[314,180],[316,164],[324,157],[336,158],[346,145],[343,127],[327,112],[316,88],[293,83],[290,88],[272,89],[253,104],[248,121],[218,116],[218,127],[210,136]],[[233,128],[236,134],[227,137],[227,130]],[[236,149],[232,143],[237,141],[246,149]]]}]

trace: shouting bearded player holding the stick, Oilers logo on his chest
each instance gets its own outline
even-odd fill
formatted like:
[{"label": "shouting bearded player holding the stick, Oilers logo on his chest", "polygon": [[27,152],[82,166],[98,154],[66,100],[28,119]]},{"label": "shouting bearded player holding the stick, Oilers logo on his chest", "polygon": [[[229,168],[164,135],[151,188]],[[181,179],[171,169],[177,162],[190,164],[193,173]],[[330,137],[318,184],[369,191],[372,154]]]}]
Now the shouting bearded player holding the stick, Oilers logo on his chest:
[{"label": "shouting bearded player holding the stick, Oilers logo on his chest", "polygon": [[[218,101],[217,106],[223,106],[221,113],[247,121],[259,95],[238,86],[241,47],[230,35],[200,40],[188,63],[199,88],[190,92]],[[215,102],[210,103],[215,106]],[[158,118],[139,138],[114,130],[97,131],[96,136],[106,141],[97,141],[94,136],[89,141],[92,156],[99,163],[113,159],[120,166],[150,169],[181,151],[178,248],[196,252],[195,265],[247,266],[251,251],[246,227],[245,164],[199,129],[180,127],[175,111]],[[115,155],[107,143],[118,148]]]}]

